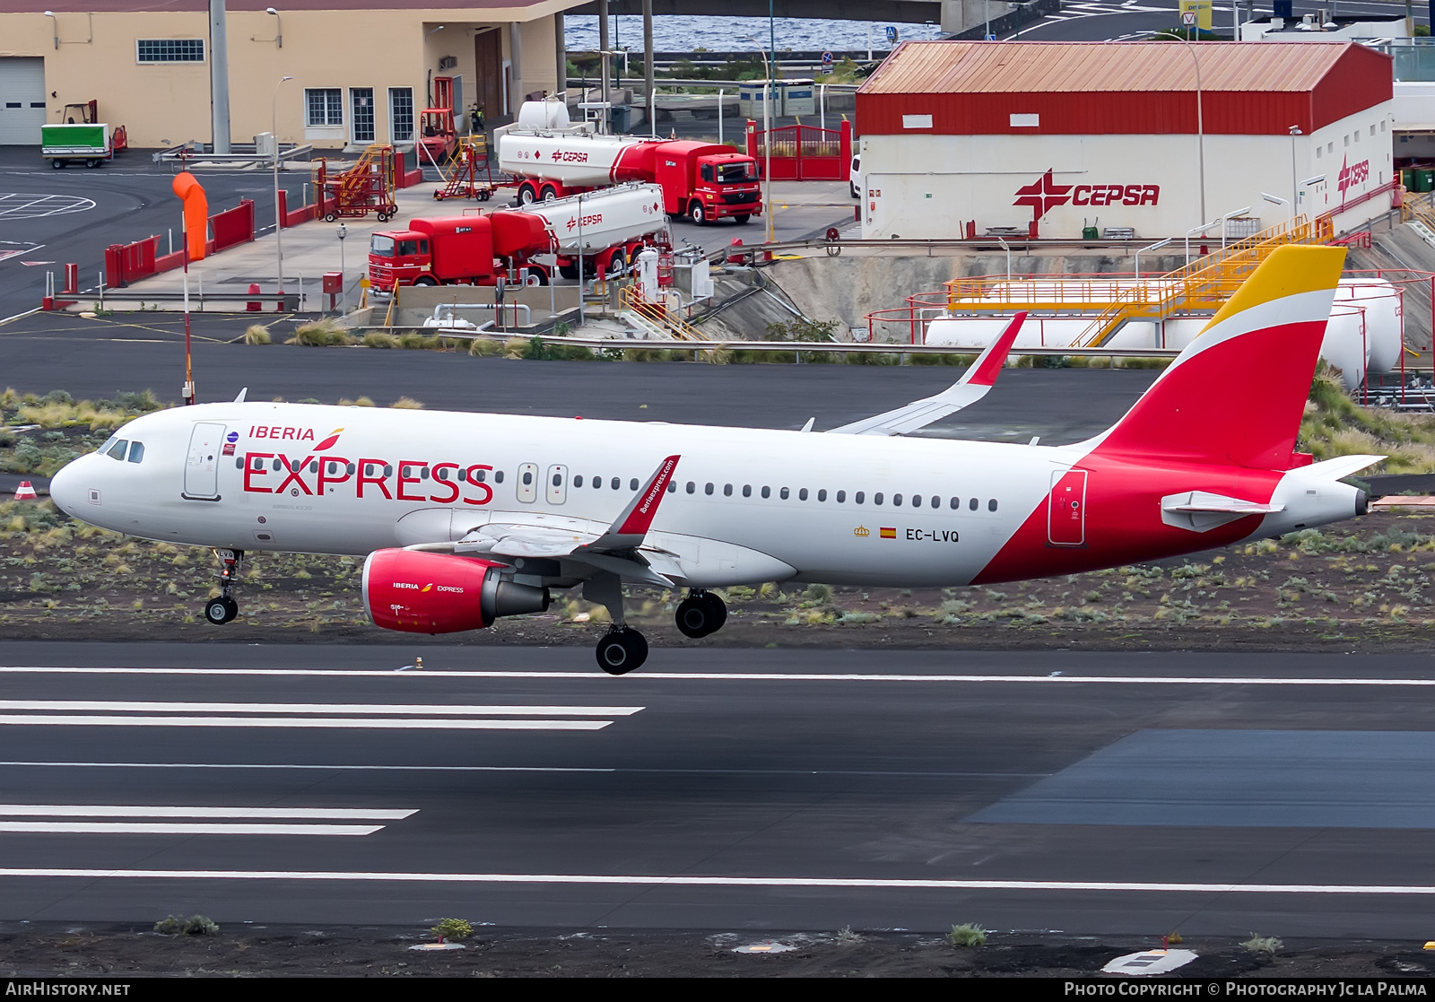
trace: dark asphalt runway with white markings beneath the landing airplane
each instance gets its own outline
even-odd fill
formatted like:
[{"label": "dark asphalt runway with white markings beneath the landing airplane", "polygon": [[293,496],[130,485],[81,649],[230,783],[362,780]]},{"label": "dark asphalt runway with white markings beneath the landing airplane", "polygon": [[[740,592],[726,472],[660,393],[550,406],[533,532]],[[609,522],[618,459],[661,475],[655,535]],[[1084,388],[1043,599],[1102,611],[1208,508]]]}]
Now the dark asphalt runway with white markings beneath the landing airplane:
[{"label": "dark asphalt runway with white markings beneath the landing airplane", "polygon": [[0,920],[1424,936],[1424,656],[11,643]]}]

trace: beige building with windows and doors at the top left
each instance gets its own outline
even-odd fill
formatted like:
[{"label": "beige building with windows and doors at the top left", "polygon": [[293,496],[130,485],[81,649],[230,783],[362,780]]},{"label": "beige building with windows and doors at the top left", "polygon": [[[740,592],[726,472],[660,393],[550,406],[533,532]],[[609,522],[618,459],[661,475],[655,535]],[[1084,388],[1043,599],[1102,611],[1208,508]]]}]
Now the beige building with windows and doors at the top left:
[{"label": "beige building with windows and doors at the top left", "polygon": [[[561,86],[577,1],[228,0],[230,139],[273,123],[280,142],[408,144],[435,78],[453,79],[459,113],[504,121]],[[210,142],[215,42],[205,0],[0,0],[0,145],[39,145],[42,123],[92,99],[132,146]]]}]

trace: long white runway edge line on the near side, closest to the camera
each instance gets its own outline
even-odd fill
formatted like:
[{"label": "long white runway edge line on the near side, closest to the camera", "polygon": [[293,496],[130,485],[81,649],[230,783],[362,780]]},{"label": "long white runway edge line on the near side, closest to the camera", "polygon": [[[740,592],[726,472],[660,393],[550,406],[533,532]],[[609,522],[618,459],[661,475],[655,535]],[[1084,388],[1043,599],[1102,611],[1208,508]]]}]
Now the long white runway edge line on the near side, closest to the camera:
[{"label": "long white runway edge line on the near side, closest to the camera", "polygon": [[610,884],[673,887],[861,887],[872,890],[1038,890],[1134,891],[1157,894],[1419,894],[1425,884],[1223,884],[1139,883],[1124,880],[881,880],[865,877],[695,877],[611,876],[571,873],[383,873],[330,870],[100,870],[65,867],[6,867],[0,877],[75,877],[82,880],[301,880],[439,884]]}]

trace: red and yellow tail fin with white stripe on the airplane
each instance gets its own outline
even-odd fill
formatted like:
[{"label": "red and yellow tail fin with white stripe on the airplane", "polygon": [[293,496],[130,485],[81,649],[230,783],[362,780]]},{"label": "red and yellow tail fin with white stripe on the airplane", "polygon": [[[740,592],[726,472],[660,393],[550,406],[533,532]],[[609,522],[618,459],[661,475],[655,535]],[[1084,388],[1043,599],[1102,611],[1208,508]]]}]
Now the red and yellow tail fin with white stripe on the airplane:
[{"label": "red and yellow tail fin with white stripe on the airplane", "polygon": [[1095,451],[1290,468],[1345,254],[1273,251]]}]

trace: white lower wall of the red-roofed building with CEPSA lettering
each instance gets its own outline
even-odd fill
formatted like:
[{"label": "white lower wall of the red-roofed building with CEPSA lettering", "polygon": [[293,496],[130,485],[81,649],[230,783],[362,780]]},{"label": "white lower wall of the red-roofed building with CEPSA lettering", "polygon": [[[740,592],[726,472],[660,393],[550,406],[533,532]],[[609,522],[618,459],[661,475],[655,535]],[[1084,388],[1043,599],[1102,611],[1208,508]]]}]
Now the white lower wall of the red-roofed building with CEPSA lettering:
[{"label": "white lower wall of the red-roofed building with CEPSA lettering", "polygon": [[[1266,228],[1292,210],[1263,200],[1263,192],[1297,201],[1300,212],[1314,217],[1342,205],[1342,171],[1346,201],[1389,182],[1392,115],[1385,102],[1294,139],[1207,135],[1205,220],[1195,135],[864,135],[862,235],[956,237],[967,220],[979,234],[986,227],[1025,231],[1033,208],[1013,202],[1032,185],[1036,194],[1055,195],[1040,214],[1043,237],[1079,237],[1083,225],[1175,237],[1246,205]],[[1363,171],[1352,174],[1359,165]],[[1052,178],[1042,184],[1048,169]],[[1297,184],[1320,177],[1323,182]],[[1115,185],[1122,202],[1096,204]],[[1389,208],[1388,200],[1375,198],[1343,214],[1340,224],[1349,230]],[[1220,238],[1218,230],[1211,233]]]}]

